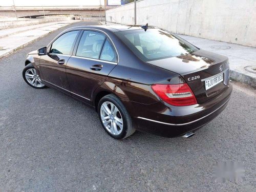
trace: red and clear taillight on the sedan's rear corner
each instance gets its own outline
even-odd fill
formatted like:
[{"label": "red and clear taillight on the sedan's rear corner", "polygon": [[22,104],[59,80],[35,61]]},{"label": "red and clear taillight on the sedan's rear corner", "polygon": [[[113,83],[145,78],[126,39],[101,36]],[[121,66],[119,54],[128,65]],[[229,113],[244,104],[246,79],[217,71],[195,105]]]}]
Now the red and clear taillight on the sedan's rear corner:
[{"label": "red and clear taillight on the sedan's rear corner", "polygon": [[175,106],[197,104],[197,99],[187,83],[153,84],[153,91],[165,102]]}]

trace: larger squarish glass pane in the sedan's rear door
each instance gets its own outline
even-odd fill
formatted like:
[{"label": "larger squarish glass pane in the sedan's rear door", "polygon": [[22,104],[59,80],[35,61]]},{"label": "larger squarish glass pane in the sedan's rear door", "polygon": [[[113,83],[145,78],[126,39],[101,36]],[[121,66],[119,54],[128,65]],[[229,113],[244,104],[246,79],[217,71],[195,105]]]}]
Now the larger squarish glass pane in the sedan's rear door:
[{"label": "larger squarish glass pane in the sedan's rear door", "polygon": [[105,35],[95,31],[83,31],[76,56],[98,59]]}]

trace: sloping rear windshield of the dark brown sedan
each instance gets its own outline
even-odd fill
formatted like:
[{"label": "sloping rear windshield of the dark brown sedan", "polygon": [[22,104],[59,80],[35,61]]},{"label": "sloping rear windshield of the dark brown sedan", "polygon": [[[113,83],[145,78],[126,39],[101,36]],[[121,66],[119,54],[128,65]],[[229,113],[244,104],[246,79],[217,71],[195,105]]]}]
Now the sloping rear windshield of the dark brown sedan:
[{"label": "sloping rear windshield of the dark brown sedan", "polygon": [[186,55],[198,50],[177,35],[161,29],[121,31],[116,34],[143,61]]}]

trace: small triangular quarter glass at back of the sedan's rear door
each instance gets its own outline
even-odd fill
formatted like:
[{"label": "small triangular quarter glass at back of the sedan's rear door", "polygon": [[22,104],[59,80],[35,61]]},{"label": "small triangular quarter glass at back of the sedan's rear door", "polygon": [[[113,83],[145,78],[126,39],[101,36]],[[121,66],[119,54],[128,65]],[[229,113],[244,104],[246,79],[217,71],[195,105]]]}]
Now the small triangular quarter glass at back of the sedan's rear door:
[{"label": "small triangular quarter glass at back of the sedan's rear door", "polygon": [[109,39],[105,40],[105,43],[103,45],[99,59],[105,60],[105,61],[116,62],[116,54],[115,54],[114,48],[111,45]]}]

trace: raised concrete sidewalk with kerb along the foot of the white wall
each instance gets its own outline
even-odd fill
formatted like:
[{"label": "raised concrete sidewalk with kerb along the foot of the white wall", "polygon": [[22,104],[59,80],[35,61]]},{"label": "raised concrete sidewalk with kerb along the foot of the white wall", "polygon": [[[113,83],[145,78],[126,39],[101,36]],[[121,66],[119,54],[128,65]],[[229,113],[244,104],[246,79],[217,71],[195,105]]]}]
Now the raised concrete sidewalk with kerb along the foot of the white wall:
[{"label": "raised concrete sidewalk with kerb along the foot of the white wall", "polygon": [[[105,25],[105,22],[100,22]],[[106,25],[120,25],[106,22]],[[230,77],[256,88],[256,48],[232,44],[229,42],[204,39],[178,34],[200,49],[225,55],[229,59]],[[249,70],[250,69],[250,70]]]}]

